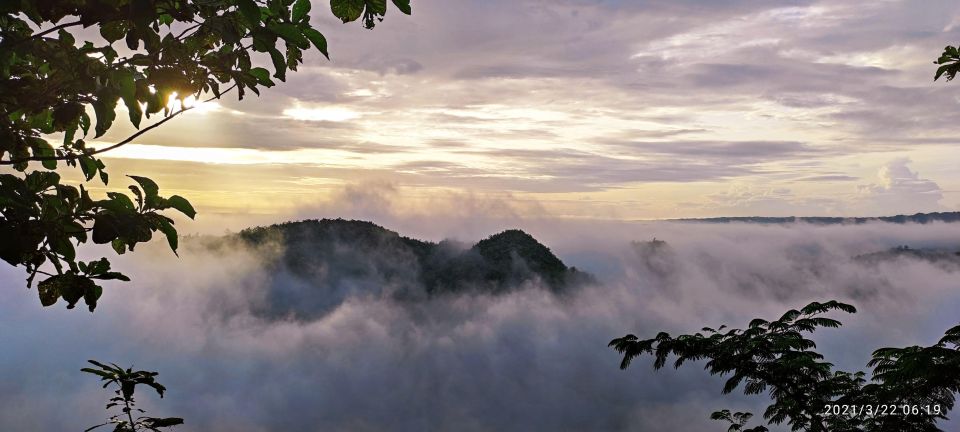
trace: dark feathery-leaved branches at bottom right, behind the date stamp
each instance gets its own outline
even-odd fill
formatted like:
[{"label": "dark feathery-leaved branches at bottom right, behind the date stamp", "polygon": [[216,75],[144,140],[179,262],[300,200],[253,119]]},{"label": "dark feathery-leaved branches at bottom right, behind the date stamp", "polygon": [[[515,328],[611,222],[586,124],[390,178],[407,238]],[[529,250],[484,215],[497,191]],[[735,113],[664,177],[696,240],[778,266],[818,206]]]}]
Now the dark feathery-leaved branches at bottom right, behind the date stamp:
[{"label": "dark feathery-leaved branches at bottom right, behind the date stamp", "polygon": [[[741,386],[744,394],[767,393],[773,403],[764,419],[786,423],[794,431],[939,431],[937,421],[946,419],[960,391],[960,326],[929,347],[876,350],[868,363],[873,368],[868,383],[864,372],[835,370],[804,335],[840,327],[839,321],[822,316],[834,310],[856,312],[837,301],[814,302],[775,321],[754,319],[746,329],[704,328],[702,333],[660,333],[646,340],[627,335],[610,346],[623,355],[622,369],[646,354],[655,358],[658,370],[670,357],[676,368],[706,360],[711,375],[728,377],[724,394]],[[846,412],[830,412],[831,407]],[[730,422],[730,431],[767,430],[742,429],[748,413],[724,410],[711,418]]]}]

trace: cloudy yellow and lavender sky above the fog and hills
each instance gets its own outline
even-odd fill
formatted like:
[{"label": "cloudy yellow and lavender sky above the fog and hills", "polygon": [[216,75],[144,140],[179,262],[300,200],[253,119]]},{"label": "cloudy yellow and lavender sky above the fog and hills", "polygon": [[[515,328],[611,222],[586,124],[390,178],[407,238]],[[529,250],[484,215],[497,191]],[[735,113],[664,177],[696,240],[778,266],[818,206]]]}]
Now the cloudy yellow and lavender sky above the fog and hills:
[{"label": "cloudy yellow and lavender sky above the fog and hills", "polygon": [[218,226],[371,184],[414,210],[469,194],[559,218],[960,209],[960,92],[932,64],[957,2],[417,0],[374,30],[316,3],[331,61],[311,52],[108,167]]}]

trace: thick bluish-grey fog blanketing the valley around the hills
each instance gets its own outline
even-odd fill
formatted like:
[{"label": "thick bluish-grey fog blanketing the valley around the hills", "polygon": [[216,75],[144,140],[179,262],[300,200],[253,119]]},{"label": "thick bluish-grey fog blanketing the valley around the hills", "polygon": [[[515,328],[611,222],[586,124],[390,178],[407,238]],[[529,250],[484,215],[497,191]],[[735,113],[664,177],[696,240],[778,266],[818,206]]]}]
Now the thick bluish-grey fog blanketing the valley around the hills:
[{"label": "thick bluish-grey fog blanketing the valley around the hills", "polygon": [[[297,282],[264,265],[269,250],[188,241],[177,258],[153,243],[116,259],[134,281],[106,285],[90,314],[42,308],[19,269],[3,267],[0,430],[102,422],[110,394],[79,372],[94,358],[159,371],[167,396],[139,401],[184,417],[181,431],[716,431],[712,411],[759,414],[766,397],[722,396],[722,379],[702,364],[654,372],[642,358],[621,371],[607,342],[744,326],[838,299],[859,313],[836,315],[844,327],[814,339],[838,367],[862,370],[873,349],[929,344],[960,320],[954,269],[853,260],[898,245],[960,249],[960,225],[509,218],[457,233],[455,223],[373,221],[468,242],[519,227],[597,283],[559,297],[528,283],[419,301],[348,289],[332,306],[317,300],[325,309],[315,317],[278,318],[257,311],[278,284]],[[631,244],[653,238],[667,249]]]}]

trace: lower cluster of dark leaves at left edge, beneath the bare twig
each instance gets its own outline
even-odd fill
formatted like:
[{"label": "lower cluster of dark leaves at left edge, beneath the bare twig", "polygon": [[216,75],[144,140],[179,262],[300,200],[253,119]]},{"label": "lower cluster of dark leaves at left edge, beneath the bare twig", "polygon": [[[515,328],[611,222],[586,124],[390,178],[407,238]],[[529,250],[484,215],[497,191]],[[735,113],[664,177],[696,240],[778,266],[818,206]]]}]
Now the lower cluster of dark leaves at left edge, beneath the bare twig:
[{"label": "lower cluster of dark leaves at left edge, beneath the bare twig", "polygon": [[[176,252],[174,221],[162,211],[173,209],[191,218],[196,211],[180,196],[159,196],[150,179],[131,178],[137,183],[129,186],[134,200],[116,192],[95,200],[82,184],[64,184],[53,171],[33,171],[22,178],[0,174],[0,259],[25,267],[28,287],[38,275],[45,276],[37,286],[43,306],[62,298],[72,309],[82,298],[92,312],[103,293],[98,281],[129,281],[110,271],[106,258],[78,260],[75,245],[109,243],[122,254],[159,231]],[[45,270],[48,267],[52,270]]]}]

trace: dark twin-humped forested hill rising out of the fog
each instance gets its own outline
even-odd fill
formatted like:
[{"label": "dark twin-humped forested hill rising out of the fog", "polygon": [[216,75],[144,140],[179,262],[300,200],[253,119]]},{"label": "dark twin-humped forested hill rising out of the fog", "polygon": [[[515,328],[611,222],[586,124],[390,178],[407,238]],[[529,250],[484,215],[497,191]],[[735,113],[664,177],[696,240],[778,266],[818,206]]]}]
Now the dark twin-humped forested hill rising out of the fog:
[{"label": "dark twin-humped forested hill rising out of the fog", "polygon": [[323,219],[251,228],[231,238],[272,250],[265,254],[268,266],[282,270],[272,273],[295,279],[273,284],[273,297],[281,303],[289,297],[289,304],[274,305],[278,313],[302,309],[304,302],[326,304],[354,294],[496,294],[527,282],[560,292],[592,279],[520,230],[466,245],[404,237],[371,222]]}]

